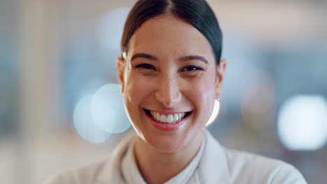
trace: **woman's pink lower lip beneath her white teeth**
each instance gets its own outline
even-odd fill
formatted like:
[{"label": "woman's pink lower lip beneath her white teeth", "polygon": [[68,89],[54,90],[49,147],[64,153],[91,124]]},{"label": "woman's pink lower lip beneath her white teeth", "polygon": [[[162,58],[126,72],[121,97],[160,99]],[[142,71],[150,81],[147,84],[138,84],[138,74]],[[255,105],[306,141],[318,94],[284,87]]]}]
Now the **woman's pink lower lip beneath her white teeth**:
[{"label": "woman's pink lower lip beneath her white teeth", "polygon": [[190,115],[189,114],[182,121],[180,121],[178,123],[161,123],[161,122],[155,121],[145,111],[143,111],[143,112],[145,113],[145,116],[147,116],[147,118],[150,119],[150,122],[152,123],[154,128],[157,128],[158,130],[162,130],[162,131],[174,131],[174,130],[178,130],[178,129],[182,128],[184,126],[184,124],[186,123],[187,119],[189,118],[189,115]]}]

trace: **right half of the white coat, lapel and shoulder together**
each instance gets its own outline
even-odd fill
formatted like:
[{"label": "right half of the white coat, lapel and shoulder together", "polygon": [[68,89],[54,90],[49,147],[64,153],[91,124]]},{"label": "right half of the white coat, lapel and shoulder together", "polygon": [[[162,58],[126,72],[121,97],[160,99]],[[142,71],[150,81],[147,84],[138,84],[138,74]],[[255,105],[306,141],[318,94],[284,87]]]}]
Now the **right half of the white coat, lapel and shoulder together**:
[{"label": "right half of the white coat, lapel and shoulder together", "polygon": [[306,184],[302,174],[291,164],[226,148],[210,132],[206,135],[202,178],[214,178],[215,183]]}]

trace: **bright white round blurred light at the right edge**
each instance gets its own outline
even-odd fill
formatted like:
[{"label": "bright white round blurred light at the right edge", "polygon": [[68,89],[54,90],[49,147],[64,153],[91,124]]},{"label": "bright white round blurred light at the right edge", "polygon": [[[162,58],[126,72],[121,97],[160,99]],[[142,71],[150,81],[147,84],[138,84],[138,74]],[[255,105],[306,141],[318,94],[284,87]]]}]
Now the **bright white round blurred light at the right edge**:
[{"label": "bright white round blurred light at the right edge", "polygon": [[296,95],[281,107],[278,134],[293,151],[314,151],[326,143],[327,102],[320,95]]}]

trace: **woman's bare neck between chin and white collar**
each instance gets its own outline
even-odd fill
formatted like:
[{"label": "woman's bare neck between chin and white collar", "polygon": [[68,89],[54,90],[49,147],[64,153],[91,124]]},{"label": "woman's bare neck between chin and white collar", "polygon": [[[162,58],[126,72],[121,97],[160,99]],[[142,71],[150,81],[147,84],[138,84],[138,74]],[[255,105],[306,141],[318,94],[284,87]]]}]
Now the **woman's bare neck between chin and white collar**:
[{"label": "woman's bare neck between chin and white collar", "polygon": [[201,147],[202,132],[174,153],[162,153],[138,137],[134,155],[140,174],[148,184],[164,183],[179,174]]}]

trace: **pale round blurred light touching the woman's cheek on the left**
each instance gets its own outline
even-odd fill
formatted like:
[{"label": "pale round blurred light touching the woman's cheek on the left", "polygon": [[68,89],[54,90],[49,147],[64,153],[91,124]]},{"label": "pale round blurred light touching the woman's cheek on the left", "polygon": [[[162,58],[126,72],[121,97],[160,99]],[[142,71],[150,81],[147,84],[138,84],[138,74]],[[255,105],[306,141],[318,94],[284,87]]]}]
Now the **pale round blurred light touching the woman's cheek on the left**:
[{"label": "pale round blurred light touching the woman's cheek on the left", "polygon": [[121,133],[131,123],[126,116],[119,84],[106,84],[92,98],[92,117],[100,128],[110,133]]}]

